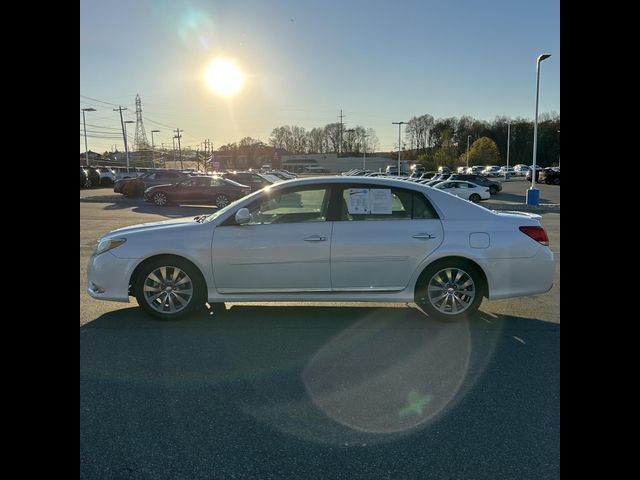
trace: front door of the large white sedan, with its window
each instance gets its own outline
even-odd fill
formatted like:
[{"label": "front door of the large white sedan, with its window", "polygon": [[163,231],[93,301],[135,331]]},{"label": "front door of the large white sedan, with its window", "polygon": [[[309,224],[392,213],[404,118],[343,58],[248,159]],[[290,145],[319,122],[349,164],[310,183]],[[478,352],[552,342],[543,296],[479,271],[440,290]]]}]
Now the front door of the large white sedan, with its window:
[{"label": "front door of the large white sedan, with its window", "polygon": [[221,293],[331,290],[330,188],[309,185],[265,192],[248,206],[249,223],[233,217],[214,230],[212,266]]}]

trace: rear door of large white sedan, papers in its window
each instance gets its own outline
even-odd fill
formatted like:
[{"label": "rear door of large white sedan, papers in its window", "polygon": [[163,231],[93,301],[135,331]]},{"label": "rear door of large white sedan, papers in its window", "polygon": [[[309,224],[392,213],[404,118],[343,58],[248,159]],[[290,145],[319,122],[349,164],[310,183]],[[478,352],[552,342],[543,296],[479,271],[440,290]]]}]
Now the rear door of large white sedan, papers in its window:
[{"label": "rear door of large white sedan, papers in its window", "polygon": [[[423,193],[408,189],[355,184],[339,188],[342,207],[331,237],[332,289],[403,290],[420,262],[442,243],[435,209]],[[378,196],[380,213],[355,213],[361,207],[358,189],[377,191],[370,195]]]}]

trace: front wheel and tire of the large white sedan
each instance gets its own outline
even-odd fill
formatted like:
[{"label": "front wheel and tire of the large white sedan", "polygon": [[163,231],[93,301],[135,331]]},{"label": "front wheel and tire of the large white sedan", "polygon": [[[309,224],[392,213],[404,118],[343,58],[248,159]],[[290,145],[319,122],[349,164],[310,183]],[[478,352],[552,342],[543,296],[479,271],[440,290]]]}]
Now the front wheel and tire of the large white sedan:
[{"label": "front wheel and tire of the large white sedan", "polygon": [[142,310],[162,320],[185,317],[202,307],[207,297],[198,269],[179,257],[159,257],[144,264],[134,293]]}]

